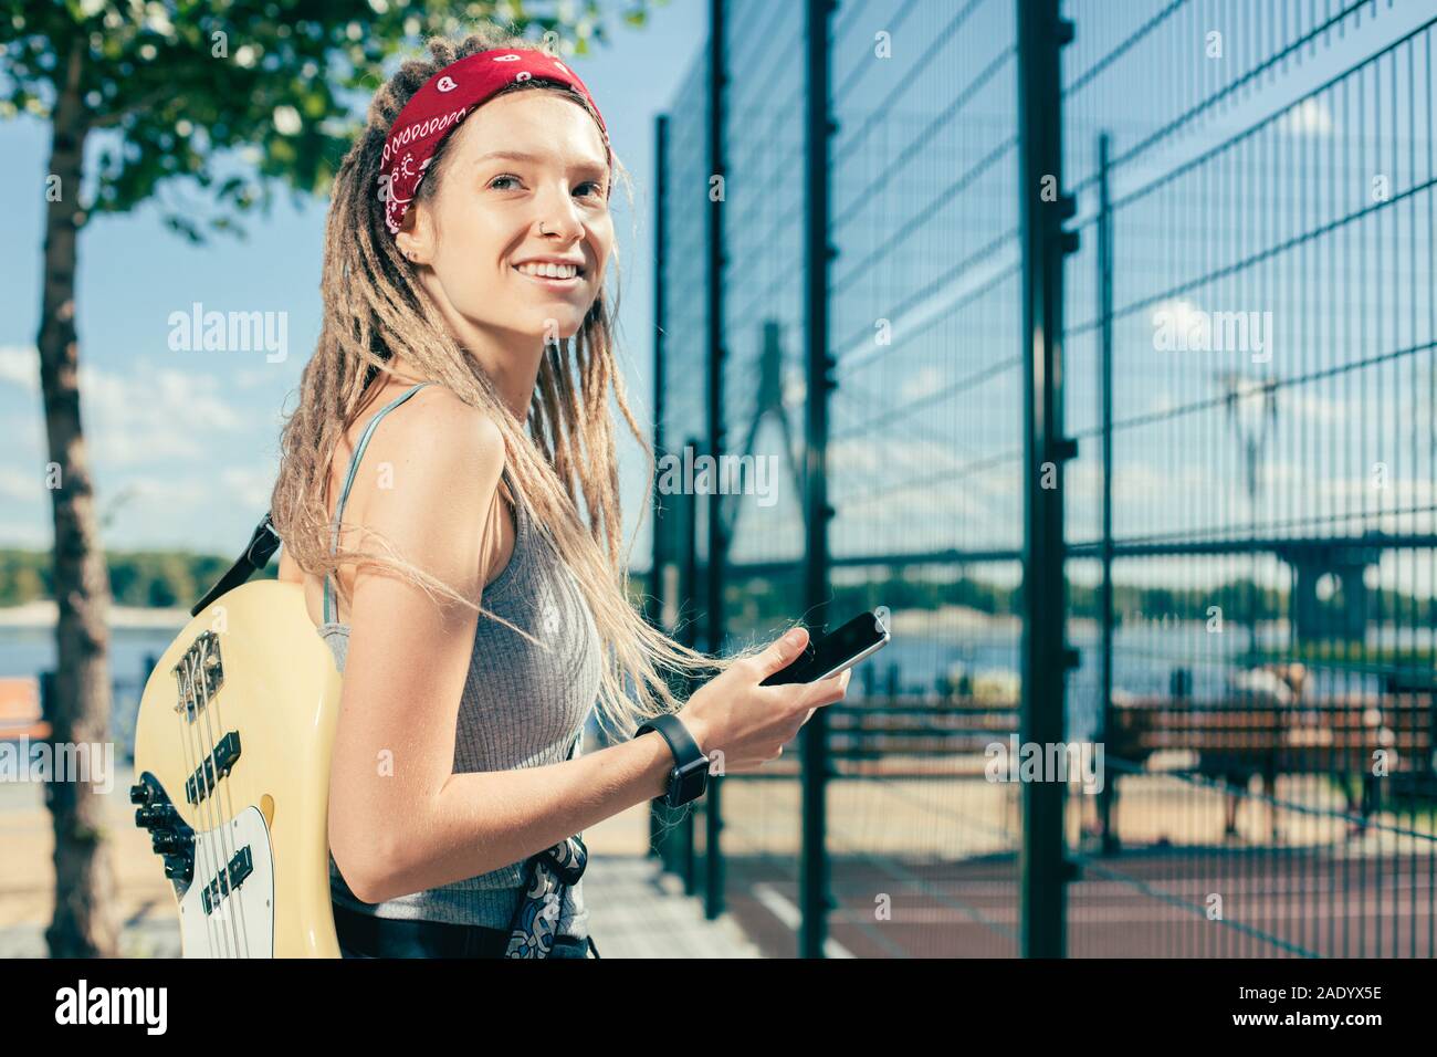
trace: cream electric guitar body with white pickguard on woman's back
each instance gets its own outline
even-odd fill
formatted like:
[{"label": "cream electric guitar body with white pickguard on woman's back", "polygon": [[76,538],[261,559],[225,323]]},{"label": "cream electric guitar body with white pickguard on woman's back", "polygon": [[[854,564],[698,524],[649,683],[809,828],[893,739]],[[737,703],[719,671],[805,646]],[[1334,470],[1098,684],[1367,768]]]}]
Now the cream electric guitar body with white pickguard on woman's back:
[{"label": "cream electric guitar body with white pickguard on woman's back", "polygon": [[262,580],[201,610],[145,683],[135,824],[152,834],[185,958],[338,958],[329,762],[339,670],[303,588]]}]

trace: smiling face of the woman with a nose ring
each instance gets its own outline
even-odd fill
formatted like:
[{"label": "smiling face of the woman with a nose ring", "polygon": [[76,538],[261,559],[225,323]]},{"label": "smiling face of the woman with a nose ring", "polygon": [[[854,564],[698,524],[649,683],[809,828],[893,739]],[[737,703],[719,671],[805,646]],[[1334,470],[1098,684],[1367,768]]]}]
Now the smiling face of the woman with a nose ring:
[{"label": "smiling face of the woman with a nose ring", "polygon": [[[503,95],[464,119],[441,164],[437,193],[410,209],[399,233],[399,247],[428,265],[420,280],[437,303],[500,341],[576,334],[614,246],[593,118],[555,92]],[[581,270],[526,275],[520,265],[536,259]]]}]

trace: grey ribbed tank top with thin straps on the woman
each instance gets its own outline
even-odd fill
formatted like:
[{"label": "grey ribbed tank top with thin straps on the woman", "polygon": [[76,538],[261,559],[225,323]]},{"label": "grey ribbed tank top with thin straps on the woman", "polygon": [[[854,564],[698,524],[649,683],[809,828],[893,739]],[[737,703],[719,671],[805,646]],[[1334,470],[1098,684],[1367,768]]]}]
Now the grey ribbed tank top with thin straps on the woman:
[{"label": "grey ribbed tank top with thin straps on the woman", "polygon": [[[430,384],[434,383],[420,383],[395,397],[365,427],[335,508],[336,534],[369,434],[385,414]],[[549,650],[527,643],[489,617],[479,618],[458,708],[454,774],[558,764],[569,758],[570,746],[578,755],[583,723],[599,695],[602,643],[589,607],[573,574],[533,523],[507,469],[503,476],[516,499],[514,552],[494,582],[484,587],[481,603],[547,644]],[[343,673],[349,626],[335,621],[335,616],[326,577],[325,623],[318,631]],[[329,884],[336,903],[361,913],[504,929],[523,897],[523,861],[382,903],[362,903],[331,856]],[[558,932],[581,939],[589,935],[582,879],[565,896]]]}]

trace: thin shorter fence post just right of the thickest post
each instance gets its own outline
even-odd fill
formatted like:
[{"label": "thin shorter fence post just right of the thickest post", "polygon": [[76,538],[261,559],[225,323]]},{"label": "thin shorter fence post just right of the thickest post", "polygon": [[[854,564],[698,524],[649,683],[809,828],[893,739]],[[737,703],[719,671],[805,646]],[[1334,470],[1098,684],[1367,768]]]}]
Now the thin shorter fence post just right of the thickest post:
[{"label": "thin shorter fence post just right of the thickest post", "polygon": [[[1102,387],[1102,590],[1099,620],[1102,621],[1102,718],[1098,739],[1106,742],[1112,733],[1112,201],[1108,187],[1108,134],[1098,137],[1098,345]],[[1102,784],[1098,794],[1098,825],[1102,833],[1102,854],[1118,851],[1118,836],[1112,831],[1112,802],[1117,777]]]}]

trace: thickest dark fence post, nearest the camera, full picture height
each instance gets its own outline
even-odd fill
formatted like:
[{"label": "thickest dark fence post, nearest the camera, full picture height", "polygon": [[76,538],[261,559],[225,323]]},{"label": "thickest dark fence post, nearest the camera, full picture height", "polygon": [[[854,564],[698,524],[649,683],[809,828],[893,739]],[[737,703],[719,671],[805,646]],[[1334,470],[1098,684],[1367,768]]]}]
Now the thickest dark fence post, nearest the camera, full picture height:
[{"label": "thickest dark fence post, nearest the camera, full picture height", "polygon": [[[1065,641],[1062,467],[1076,443],[1062,430],[1063,255],[1075,236],[1062,229],[1075,203],[1062,193],[1059,50],[1072,23],[1059,0],[1017,0],[1019,186],[1023,249],[1023,708],[1022,742],[1063,741],[1063,683],[1076,656]],[[1046,755],[1046,752],[1045,752]],[[1023,782],[1020,943],[1025,958],[1062,958],[1066,785]]]}]

